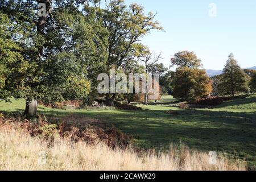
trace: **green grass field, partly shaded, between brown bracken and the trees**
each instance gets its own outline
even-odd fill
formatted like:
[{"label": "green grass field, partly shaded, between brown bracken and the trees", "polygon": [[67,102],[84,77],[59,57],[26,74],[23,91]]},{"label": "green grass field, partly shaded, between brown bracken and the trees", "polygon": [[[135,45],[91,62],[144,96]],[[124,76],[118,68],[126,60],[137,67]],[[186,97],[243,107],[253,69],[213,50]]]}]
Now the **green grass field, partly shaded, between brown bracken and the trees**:
[{"label": "green grass field, partly shaded, between brown bracken and the trees", "polygon": [[[256,96],[225,102],[214,109],[183,110],[166,96],[142,111],[125,110],[55,110],[39,106],[45,115],[85,115],[113,123],[133,135],[134,144],[143,148],[165,150],[170,143],[183,142],[201,151],[235,154],[256,164]],[[24,100],[0,102],[0,111],[20,111]],[[175,110],[177,114],[166,114]]]}]

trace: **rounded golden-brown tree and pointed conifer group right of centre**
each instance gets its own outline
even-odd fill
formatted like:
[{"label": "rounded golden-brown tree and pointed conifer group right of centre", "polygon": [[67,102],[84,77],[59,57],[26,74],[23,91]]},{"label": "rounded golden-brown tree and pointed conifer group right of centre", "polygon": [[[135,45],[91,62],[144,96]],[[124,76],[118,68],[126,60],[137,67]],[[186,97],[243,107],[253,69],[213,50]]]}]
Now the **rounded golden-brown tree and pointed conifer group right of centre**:
[{"label": "rounded golden-brown tree and pointed conifer group right of centre", "polygon": [[204,69],[200,69],[201,60],[195,53],[178,52],[171,59],[169,71],[160,78],[164,92],[184,101],[195,101],[210,95],[235,96],[237,93],[256,92],[256,71],[241,69],[233,53],[230,53],[221,75],[209,78]]}]

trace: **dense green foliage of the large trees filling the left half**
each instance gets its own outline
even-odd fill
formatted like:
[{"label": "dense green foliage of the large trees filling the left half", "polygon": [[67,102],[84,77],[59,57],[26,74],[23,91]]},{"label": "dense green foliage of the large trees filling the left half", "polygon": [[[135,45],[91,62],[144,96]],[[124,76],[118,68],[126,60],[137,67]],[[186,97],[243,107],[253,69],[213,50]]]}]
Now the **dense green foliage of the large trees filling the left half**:
[{"label": "dense green foliage of the large trees filling the left half", "polygon": [[137,42],[162,29],[155,14],[122,0],[104,9],[100,1],[47,1],[47,17],[36,15],[40,2],[0,1],[1,98],[90,101],[97,97],[99,73],[142,69],[134,60]]}]

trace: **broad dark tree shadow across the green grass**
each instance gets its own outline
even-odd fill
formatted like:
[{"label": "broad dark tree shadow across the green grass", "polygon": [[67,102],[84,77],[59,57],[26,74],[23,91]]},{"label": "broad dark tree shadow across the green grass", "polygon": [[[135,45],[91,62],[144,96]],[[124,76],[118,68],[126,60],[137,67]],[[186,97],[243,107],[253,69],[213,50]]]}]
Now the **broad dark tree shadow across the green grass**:
[{"label": "broad dark tree shadow across the green grass", "polygon": [[[167,146],[170,142],[192,142],[192,146],[224,147],[227,143],[255,146],[256,113],[228,113],[209,110],[177,110],[166,114],[159,110],[76,111],[72,114],[113,123],[125,133],[135,135],[145,148]],[[67,115],[65,111],[46,111],[46,115]],[[208,144],[205,144],[208,143]],[[255,148],[256,151],[256,148]]]}]

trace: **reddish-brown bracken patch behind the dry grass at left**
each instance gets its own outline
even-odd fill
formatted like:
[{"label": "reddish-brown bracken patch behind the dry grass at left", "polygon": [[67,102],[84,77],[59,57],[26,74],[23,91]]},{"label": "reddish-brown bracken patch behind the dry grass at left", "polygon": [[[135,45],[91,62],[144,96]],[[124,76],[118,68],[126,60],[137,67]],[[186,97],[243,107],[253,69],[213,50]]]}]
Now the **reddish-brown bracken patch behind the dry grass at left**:
[{"label": "reddish-brown bracken patch behind the dry grass at left", "polygon": [[13,123],[16,127],[28,131],[31,137],[39,137],[49,144],[55,140],[65,138],[73,142],[89,144],[105,143],[111,148],[129,146],[132,137],[123,134],[113,125],[108,125],[97,119],[73,117],[63,118],[39,115],[35,122],[26,119],[0,118],[0,125]]}]

